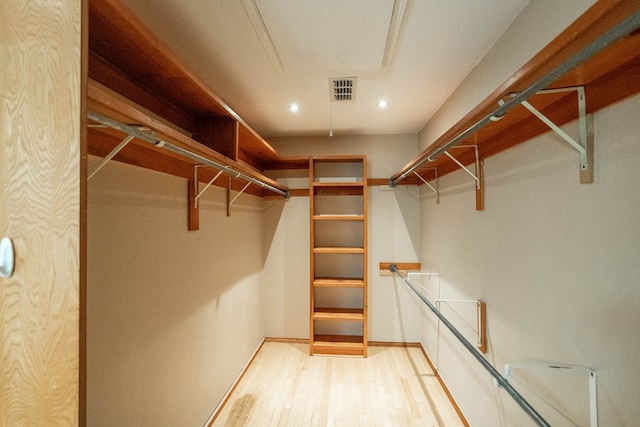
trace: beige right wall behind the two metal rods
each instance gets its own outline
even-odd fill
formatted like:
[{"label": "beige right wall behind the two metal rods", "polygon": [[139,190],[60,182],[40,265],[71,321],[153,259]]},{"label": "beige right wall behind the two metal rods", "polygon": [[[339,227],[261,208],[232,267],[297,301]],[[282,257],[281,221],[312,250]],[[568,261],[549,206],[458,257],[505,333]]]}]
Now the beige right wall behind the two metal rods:
[{"label": "beige right wall behind the two metal rods", "polygon": [[[532,2],[420,133],[424,147],[505,80],[592,2]],[[562,10],[558,8],[563,8]],[[595,117],[595,182],[579,184],[577,153],[548,133],[486,160],[485,210],[470,178],[440,181],[439,205],[421,189],[421,260],[441,273],[443,297],[487,303],[489,353],[505,363],[597,371],[601,425],[633,425],[640,370],[640,98]],[[576,125],[566,130],[576,135]],[[433,315],[423,345],[474,426],[533,425]],[[536,371],[515,383],[552,425],[588,425],[586,376]],[[571,424],[568,424],[571,425]]]}]

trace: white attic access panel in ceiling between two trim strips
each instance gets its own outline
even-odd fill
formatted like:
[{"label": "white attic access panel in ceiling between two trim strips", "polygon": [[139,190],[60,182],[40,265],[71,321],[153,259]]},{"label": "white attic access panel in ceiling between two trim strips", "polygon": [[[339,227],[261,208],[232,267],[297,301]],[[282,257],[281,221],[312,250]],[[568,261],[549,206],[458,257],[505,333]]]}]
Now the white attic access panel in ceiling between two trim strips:
[{"label": "white attic access panel in ceiling between two trim strips", "polygon": [[[278,72],[379,71],[393,53],[405,2],[243,0]],[[395,12],[395,13],[394,13]]]}]

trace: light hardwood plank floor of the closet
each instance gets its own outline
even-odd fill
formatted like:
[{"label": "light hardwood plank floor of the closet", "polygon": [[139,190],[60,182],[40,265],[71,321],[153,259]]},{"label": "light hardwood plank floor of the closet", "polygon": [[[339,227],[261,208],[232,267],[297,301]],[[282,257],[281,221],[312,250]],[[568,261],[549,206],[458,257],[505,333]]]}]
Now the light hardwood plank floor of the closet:
[{"label": "light hardwood plank floor of the closet", "polygon": [[462,426],[421,349],[309,356],[265,342],[213,426]]}]

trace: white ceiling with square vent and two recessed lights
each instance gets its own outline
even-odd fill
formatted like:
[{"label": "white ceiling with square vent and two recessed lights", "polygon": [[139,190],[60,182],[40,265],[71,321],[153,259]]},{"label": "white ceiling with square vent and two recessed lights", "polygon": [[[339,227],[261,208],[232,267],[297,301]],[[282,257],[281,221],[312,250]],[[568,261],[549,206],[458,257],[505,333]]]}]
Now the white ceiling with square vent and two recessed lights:
[{"label": "white ceiling with square vent and two recessed lights", "polygon": [[417,133],[529,0],[122,1],[268,138]]}]

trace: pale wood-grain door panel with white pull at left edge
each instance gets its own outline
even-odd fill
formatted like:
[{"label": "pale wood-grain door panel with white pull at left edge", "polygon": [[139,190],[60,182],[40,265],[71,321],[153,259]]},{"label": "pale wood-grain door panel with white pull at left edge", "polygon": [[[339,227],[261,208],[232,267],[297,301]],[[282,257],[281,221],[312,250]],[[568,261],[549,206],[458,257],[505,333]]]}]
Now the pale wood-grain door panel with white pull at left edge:
[{"label": "pale wood-grain door panel with white pull at left edge", "polygon": [[79,419],[82,2],[0,3],[0,426]]}]

